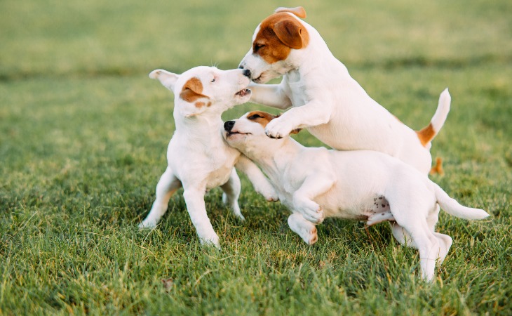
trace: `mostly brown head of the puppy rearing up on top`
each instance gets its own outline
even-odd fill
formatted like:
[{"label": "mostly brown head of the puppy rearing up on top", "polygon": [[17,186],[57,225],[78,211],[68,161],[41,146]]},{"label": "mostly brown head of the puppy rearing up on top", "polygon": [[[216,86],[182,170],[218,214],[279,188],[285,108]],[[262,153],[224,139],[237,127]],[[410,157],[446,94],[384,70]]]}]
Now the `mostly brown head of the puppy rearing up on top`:
[{"label": "mostly brown head of the puppy rearing up on top", "polygon": [[240,62],[240,68],[249,70],[251,79],[264,84],[281,77],[297,67],[292,55],[309,44],[309,32],[304,8],[277,8],[275,13],[256,27],[252,47]]}]

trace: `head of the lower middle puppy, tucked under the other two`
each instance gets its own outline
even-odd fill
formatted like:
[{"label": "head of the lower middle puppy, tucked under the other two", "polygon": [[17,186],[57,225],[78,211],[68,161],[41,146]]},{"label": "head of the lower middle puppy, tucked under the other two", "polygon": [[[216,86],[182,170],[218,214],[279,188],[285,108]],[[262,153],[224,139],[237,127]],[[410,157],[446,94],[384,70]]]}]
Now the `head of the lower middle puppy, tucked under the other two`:
[{"label": "head of the lower middle puppy, tucked under the other two", "polygon": [[[276,119],[278,115],[262,111],[252,111],[243,114],[239,119],[227,121],[224,123],[224,139],[227,143],[243,154],[249,155],[250,152],[264,152],[271,150],[272,147],[283,143],[288,138],[275,139],[269,138],[265,134],[265,127],[269,121]],[[299,133],[296,129],[291,133]]]}]

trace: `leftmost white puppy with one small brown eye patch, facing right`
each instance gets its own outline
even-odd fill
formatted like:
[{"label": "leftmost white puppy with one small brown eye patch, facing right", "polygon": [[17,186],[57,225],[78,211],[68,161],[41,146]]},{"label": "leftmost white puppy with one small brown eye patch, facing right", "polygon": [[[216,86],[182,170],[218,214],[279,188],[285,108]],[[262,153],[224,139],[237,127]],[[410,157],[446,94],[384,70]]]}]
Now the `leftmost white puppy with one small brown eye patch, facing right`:
[{"label": "leftmost white puppy with one small brown eye patch, facing right", "polygon": [[149,77],[159,79],[173,91],[176,131],[167,150],[168,167],[156,185],[156,199],[139,227],[154,228],[166,213],[170,197],[183,187],[187,211],[201,243],[219,248],[219,237],[206,213],[204,195],[220,186],[224,203],[243,220],[238,206],[241,184],[234,166],[247,174],[255,190],[267,200],[277,199],[274,187],[260,169],[229,147],[221,136],[222,112],[250,98],[248,71],[201,66],[183,74],[154,70]]}]

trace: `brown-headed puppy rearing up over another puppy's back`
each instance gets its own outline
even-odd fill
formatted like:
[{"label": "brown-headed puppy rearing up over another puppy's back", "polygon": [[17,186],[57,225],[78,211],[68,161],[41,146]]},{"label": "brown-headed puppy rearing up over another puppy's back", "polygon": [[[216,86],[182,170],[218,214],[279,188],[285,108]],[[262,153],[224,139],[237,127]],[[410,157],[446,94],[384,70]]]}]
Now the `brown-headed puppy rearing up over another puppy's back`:
[{"label": "brown-headed puppy rearing up over another puppy's back", "polygon": [[[376,150],[429,173],[431,140],[450,111],[448,90],[440,94],[429,126],[413,131],[370,98],[316,29],[299,18],[306,18],[302,7],[278,8],[264,19],[239,66],[256,83],[250,86],[251,102],[292,107],[269,123],[267,136],[306,128],[336,150]],[[264,84],[281,76],[280,84]]]}]

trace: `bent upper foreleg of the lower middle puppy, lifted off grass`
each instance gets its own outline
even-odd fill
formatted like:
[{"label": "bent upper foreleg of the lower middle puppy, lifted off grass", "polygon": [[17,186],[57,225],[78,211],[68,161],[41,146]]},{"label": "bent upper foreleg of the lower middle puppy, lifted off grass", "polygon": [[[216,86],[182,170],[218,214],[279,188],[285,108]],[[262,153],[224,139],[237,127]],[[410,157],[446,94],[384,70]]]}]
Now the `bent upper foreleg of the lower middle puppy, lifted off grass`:
[{"label": "bent upper foreleg of the lower middle puppy, lifted off grass", "polygon": [[335,180],[327,174],[315,173],[308,176],[299,189],[293,193],[295,211],[301,213],[311,223],[322,223],[324,218],[323,210],[313,199],[327,192],[334,184]]}]

